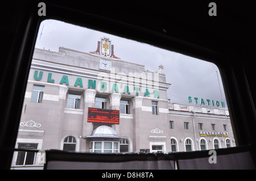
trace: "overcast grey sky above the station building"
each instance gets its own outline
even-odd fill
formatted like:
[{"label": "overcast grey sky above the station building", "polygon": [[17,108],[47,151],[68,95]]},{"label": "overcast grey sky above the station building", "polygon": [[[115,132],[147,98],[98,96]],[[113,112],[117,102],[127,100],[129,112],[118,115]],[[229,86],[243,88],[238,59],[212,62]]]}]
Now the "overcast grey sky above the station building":
[{"label": "overcast grey sky above the station building", "polygon": [[[110,38],[114,54],[121,60],[142,64],[145,70],[154,72],[162,64],[166,81],[171,83],[167,92],[172,103],[189,104],[188,96],[191,96],[192,99],[203,98],[205,104],[206,99],[223,100],[225,108],[228,107],[219,70],[207,61],[56,20],[41,23],[35,47],[55,52],[59,51],[59,47],[65,47],[89,53],[97,49],[97,42],[104,36]],[[192,103],[195,103],[194,99]]]}]

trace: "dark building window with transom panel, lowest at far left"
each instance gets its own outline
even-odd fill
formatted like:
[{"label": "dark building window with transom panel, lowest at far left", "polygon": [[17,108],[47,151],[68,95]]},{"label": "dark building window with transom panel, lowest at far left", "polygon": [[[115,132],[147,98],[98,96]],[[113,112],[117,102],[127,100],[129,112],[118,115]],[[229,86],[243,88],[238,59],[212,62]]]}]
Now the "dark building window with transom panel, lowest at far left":
[{"label": "dark building window with transom panel, lowest at far left", "polygon": [[[38,144],[18,144],[18,149],[37,149]],[[34,165],[35,152],[18,151],[16,165]]]}]

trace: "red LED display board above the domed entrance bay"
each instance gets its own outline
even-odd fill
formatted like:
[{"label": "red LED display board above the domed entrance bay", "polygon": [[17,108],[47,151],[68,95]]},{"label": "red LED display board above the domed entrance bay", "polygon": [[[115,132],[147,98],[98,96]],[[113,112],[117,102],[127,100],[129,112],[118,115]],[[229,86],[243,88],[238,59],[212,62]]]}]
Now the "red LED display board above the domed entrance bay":
[{"label": "red LED display board above the domed entrance bay", "polygon": [[118,110],[88,108],[88,122],[119,124]]}]

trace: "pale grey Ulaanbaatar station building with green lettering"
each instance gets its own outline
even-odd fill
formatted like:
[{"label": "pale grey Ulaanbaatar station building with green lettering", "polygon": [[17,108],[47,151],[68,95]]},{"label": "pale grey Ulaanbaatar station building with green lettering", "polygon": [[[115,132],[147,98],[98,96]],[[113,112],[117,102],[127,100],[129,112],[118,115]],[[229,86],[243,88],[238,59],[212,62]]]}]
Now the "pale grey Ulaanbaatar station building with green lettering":
[{"label": "pale grey Ulaanbaatar station building with green lettering", "polygon": [[[236,146],[225,107],[171,103],[170,86],[162,65],[152,72],[121,60],[107,37],[89,53],[35,48],[16,148],[120,153]],[[27,165],[39,165],[35,153],[16,151],[13,167]]]}]

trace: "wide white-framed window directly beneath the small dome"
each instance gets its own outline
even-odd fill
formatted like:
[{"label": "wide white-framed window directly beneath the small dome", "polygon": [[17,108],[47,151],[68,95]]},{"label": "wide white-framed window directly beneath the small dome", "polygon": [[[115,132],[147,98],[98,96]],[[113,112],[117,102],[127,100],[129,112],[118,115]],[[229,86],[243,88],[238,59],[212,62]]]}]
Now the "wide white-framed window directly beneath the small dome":
[{"label": "wide white-framed window directly beneath the small dome", "polygon": [[118,153],[118,142],[112,141],[92,141],[90,142],[90,152],[94,153]]}]

